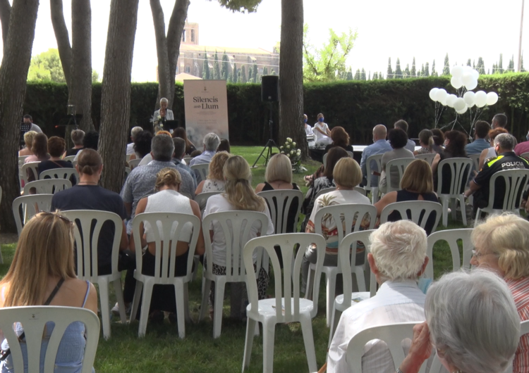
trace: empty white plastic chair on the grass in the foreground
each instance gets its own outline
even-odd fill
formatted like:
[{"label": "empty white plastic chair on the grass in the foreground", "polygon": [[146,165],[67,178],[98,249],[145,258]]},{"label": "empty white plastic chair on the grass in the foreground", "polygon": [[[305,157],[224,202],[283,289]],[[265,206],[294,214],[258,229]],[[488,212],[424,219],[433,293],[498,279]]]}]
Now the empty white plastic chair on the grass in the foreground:
[{"label": "empty white plastic chair on the grass in the foreground", "polygon": [[[294,255],[295,247],[307,247],[310,244],[317,246],[317,264],[315,286],[312,301],[300,298],[300,270],[301,261],[305,251],[298,250]],[[279,259],[274,246],[281,247],[284,269],[281,276]],[[253,252],[256,248],[264,248],[272,261],[274,268],[275,297],[257,300],[257,282],[253,272]],[[316,372],[316,355],[314,338],[312,336],[312,318],[317,314],[318,296],[320,293],[320,277],[325,255],[325,240],[320,234],[311,233],[285,233],[272,236],[257,237],[248,241],[243,250],[243,259],[248,272],[248,298],[250,304],[246,308],[247,324],[244,345],[243,372],[250,366],[254,329],[257,322],[262,323],[263,334],[263,369],[265,373],[274,371],[274,335],[275,325],[278,323],[300,322],[305,342],[309,372]],[[294,262],[292,265],[291,263]],[[293,270],[292,270],[293,268]],[[292,281],[294,279],[294,281]]]}]

